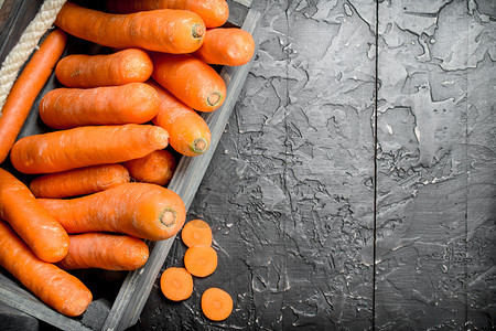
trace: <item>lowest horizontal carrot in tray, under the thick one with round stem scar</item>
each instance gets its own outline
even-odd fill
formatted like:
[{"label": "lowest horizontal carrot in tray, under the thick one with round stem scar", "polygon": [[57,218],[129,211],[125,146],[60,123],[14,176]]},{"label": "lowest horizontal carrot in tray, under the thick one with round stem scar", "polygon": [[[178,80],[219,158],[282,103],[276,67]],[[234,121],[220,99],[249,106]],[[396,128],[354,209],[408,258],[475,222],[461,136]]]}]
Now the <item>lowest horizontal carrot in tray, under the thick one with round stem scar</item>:
[{"label": "lowest horizontal carrot in tray, under the thick one with round stem scar", "polygon": [[149,249],[143,241],[106,233],[71,235],[67,256],[57,263],[64,270],[100,268],[136,270],[148,260]]}]

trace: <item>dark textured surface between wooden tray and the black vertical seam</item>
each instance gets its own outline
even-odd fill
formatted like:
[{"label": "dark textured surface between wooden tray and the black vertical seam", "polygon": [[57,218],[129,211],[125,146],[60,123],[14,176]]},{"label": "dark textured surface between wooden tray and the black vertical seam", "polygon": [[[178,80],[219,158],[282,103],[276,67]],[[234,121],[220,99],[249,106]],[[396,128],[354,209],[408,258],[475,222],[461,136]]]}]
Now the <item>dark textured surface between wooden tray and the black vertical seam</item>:
[{"label": "dark textured surface between wooden tray and the black vertical seam", "polygon": [[[184,302],[155,286],[133,330],[370,328],[373,4],[356,4],[370,21],[347,1],[263,8],[257,61],[188,213],[212,225],[218,268]],[[184,252],[177,239],[164,268]],[[201,312],[213,286],[235,302],[224,322]]]}]

